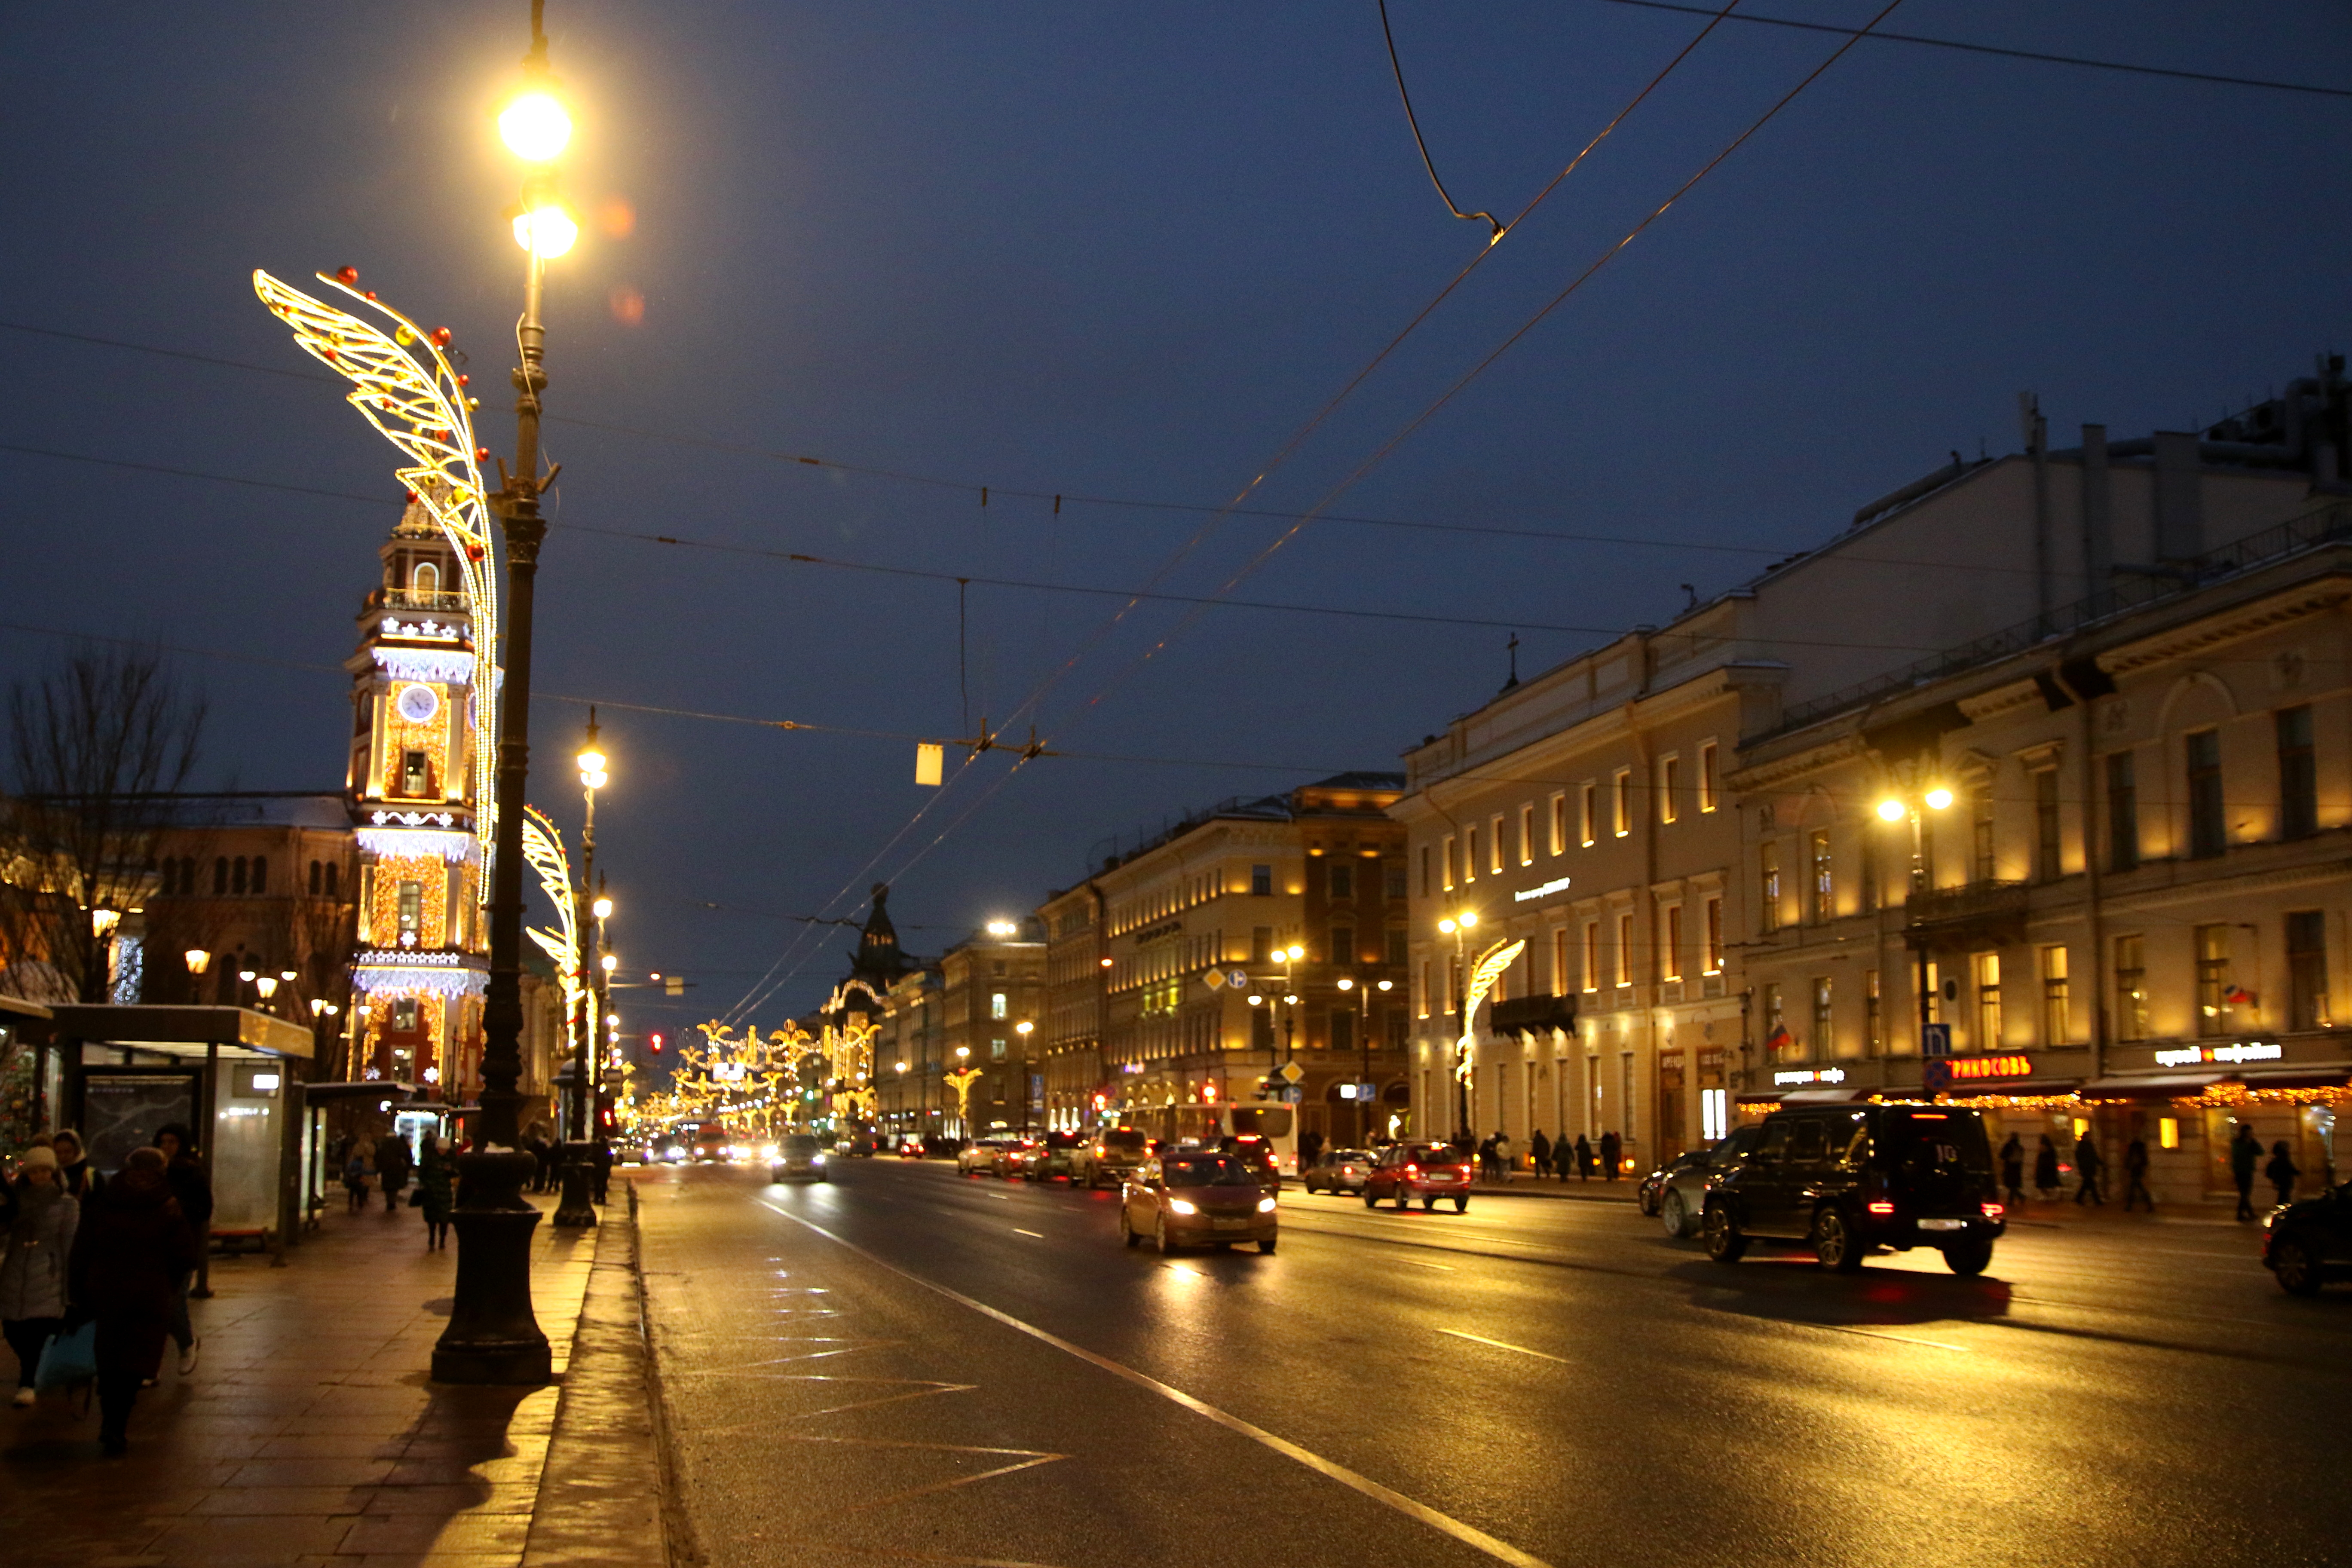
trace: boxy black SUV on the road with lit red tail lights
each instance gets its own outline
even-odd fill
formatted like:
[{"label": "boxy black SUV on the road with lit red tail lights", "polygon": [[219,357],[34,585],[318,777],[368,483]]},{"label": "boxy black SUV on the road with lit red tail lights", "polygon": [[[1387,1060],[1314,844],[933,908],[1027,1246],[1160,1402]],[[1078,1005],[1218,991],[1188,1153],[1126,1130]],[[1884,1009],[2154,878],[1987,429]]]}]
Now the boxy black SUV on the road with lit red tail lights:
[{"label": "boxy black SUV on the road with lit red tail lights", "polygon": [[1778,1110],[1700,1211],[1717,1262],[1738,1262],[1750,1241],[1797,1241],[1839,1272],[1879,1246],[1933,1246],[1955,1274],[1983,1274],[2004,1229],[1985,1121],[1952,1105]]}]

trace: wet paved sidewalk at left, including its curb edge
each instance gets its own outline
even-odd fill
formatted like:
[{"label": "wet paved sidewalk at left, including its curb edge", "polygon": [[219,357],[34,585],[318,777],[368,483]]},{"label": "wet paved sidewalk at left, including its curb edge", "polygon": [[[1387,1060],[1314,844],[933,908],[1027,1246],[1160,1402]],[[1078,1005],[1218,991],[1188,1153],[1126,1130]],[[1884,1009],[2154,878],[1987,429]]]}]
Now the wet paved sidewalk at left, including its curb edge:
[{"label": "wet paved sidewalk at left, including its curb edge", "polygon": [[[329,1208],[282,1269],[216,1258],[214,1298],[191,1302],[200,1366],[176,1375],[167,1347],[129,1455],[103,1460],[96,1413],[64,1396],[0,1408],[0,1559],[659,1568],[659,1465],[630,1345],[635,1227],[626,1187],[614,1197],[593,1232],[534,1232],[532,1295],[560,1380],[541,1389],[430,1382],[456,1246],[428,1253],[416,1211]],[[572,1441],[588,1429],[595,1443]],[[534,1523],[541,1497],[560,1497],[560,1519]]]}]

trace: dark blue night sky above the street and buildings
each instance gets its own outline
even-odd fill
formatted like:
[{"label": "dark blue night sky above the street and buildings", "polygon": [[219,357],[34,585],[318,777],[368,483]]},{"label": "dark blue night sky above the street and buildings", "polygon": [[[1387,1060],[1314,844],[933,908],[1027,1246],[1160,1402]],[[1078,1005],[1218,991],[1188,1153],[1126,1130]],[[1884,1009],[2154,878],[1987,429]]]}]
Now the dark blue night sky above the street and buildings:
[{"label": "dark blue night sky above the street and buildings", "polygon": [[[1112,835],[1399,766],[1494,693],[1512,630],[1534,672],[1665,621],[1682,583],[1719,592],[1950,449],[2016,449],[2018,390],[2060,447],[2084,421],[2187,428],[2352,336],[2352,99],[1863,42],[1345,489],[1350,520],[1232,590],[1451,621],[1143,604],[1103,635],[1122,599],[974,583],[960,675],[953,581],[628,534],[1223,590],[1291,524],[1214,508],[1484,242],[1430,190],[1371,0],[548,12],[588,221],[548,294],[564,473],[532,799],[576,823],[569,755],[604,703],[614,940],[626,969],[696,983],[623,1001],[630,1032],[811,1006],[847,933],[783,917],[856,914],[868,882],[938,952]],[[1439,174],[1498,214],[1703,26],[1609,0],[1390,12]],[[207,783],[341,785],[339,661],[397,512],[393,451],[306,378],[249,273],[350,263],[449,324],[510,451],[522,256],[492,115],[524,16],[0,14],[0,672],[38,670],[52,632],[158,639],[209,696]],[[2352,87],[2352,31],[2319,0],[1915,0],[1886,26]],[[1249,505],[1322,503],[1837,42],[1717,28]],[[983,712],[1094,757],[988,755],[920,790],[913,736]]]}]

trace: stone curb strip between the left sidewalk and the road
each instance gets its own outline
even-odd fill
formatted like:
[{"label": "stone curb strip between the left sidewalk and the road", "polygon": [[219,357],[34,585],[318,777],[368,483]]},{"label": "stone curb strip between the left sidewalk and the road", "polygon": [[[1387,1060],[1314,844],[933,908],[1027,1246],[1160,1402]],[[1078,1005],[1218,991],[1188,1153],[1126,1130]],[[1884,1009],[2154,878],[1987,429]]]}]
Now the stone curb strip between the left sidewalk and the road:
[{"label": "stone curb strip between the left sidewalk and the road", "polygon": [[607,1206],[539,1472],[524,1568],[670,1563],[670,1488],[637,1274],[637,1190]]}]

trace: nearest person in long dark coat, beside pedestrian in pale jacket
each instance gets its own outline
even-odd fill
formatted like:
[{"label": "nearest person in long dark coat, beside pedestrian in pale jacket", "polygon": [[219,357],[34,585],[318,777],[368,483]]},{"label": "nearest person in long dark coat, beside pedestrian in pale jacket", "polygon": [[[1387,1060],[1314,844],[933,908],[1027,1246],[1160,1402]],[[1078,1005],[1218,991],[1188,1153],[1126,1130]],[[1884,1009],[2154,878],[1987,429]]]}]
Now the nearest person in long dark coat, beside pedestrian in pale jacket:
[{"label": "nearest person in long dark coat, beside pedestrian in pale jacket", "polygon": [[66,1300],[99,1324],[99,1443],[127,1448],[139,1385],[155,1378],[172,1331],[172,1286],[195,1267],[162,1150],[132,1150],[89,1199],[66,1260]]}]

